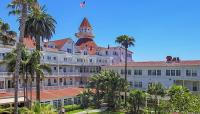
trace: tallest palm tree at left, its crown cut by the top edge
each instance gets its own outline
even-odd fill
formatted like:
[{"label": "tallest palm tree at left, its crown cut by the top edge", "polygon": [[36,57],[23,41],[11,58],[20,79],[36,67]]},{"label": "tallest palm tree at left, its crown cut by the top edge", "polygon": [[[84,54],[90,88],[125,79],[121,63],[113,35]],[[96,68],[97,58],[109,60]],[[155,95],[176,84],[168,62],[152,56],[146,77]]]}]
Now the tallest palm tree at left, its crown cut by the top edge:
[{"label": "tallest palm tree at left, its crown cut by the top edge", "polygon": [[12,11],[9,14],[20,15],[19,16],[19,42],[17,43],[17,61],[15,65],[15,73],[14,73],[14,81],[15,81],[15,108],[14,113],[18,114],[18,82],[19,82],[19,66],[21,59],[21,45],[24,38],[25,32],[25,24],[27,19],[28,7],[33,6],[37,0],[12,0],[12,2],[8,5]]}]

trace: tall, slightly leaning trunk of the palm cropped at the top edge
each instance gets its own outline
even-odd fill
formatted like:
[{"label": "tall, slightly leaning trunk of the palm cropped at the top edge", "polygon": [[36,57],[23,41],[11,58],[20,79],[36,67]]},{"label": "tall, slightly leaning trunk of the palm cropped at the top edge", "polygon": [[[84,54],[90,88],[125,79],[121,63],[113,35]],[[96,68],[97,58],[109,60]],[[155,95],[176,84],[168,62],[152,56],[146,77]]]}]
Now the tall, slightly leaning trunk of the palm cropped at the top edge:
[{"label": "tall, slightly leaning trunk of the palm cropped at the top edge", "polygon": [[21,45],[23,43],[24,38],[24,31],[25,31],[25,23],[27,18],[27,4],[22,4],[21,9],[21,19],[20,19],[20,36],[19,42],[17,43],[17,60],[15,65],[15,73],[14,73],[14,80],[15,80],[15,102],[14,102],[14,114],[18,114],[18,83],[19,83],[19,68],[21,62]]}]

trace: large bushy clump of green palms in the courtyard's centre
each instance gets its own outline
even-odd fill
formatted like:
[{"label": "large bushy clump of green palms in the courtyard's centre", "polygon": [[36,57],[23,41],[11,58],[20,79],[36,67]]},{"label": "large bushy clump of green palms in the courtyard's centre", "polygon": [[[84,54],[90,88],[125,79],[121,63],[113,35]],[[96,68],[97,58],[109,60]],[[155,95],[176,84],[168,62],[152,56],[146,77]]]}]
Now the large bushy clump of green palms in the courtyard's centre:
[{"label": "large bushy clump of green palms in the courtyard's centre", "polygon": [[[128,82],[121,78],[118,73],[113,71],[101,71],[90,79],[89,82],[93,84],[93,89],[97,89],[95,95],[99,100],[102,98],[104,102],[108,103],[110,109],[115,110],[119,100],[121,100],[121,94],[128,86]],[[101,96],[102,95],[102,96]]]}]

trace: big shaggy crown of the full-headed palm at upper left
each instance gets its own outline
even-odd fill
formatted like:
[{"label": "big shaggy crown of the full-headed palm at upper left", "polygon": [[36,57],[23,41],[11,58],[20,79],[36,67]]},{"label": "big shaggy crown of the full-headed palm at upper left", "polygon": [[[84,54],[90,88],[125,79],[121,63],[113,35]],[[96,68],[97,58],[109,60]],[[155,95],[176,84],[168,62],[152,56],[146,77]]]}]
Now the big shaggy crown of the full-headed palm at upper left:
[{"label": "big shaggy crown of the full-headed palm at upper left", "polygon": [[44,7],[32,8],[26,21],[25,34],[35,38],[36,43],[42,40],[49,40],[55,33],[56,21],[49,15]]}]

